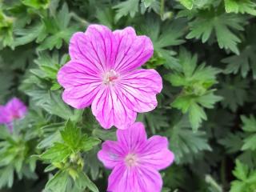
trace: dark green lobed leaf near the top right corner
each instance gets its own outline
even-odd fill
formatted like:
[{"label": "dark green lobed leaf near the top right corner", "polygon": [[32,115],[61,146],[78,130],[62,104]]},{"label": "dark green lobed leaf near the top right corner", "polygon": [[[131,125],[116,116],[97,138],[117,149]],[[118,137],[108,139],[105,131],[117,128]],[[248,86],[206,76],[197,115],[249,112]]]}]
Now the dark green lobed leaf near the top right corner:
[{"label": "dark green lobed leaf near the top right corner", "polygon": [[193,19],[189,22],[190,33],[186,38],[201,38],[202,42],[206,42],[214,34],[221,49],[239,54],[238,43],[241,40],[234,31],[244,30],[244,18],[235,14],[218,13],[214,9],[194,12],[190,18]]}]

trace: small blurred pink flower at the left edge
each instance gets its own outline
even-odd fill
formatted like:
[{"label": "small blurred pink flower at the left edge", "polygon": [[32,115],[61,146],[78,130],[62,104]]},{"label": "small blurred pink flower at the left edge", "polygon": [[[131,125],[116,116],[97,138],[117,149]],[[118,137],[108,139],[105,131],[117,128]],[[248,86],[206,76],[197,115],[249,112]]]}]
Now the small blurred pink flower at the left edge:
[{"label": "small blurred pink flower at the left edge", "polygon": [[0,124],[6,124],[12,130],[12,122],[24,118],[27,113],[26,106],[18,98],[12,98],[6,106],[0,106]]}]

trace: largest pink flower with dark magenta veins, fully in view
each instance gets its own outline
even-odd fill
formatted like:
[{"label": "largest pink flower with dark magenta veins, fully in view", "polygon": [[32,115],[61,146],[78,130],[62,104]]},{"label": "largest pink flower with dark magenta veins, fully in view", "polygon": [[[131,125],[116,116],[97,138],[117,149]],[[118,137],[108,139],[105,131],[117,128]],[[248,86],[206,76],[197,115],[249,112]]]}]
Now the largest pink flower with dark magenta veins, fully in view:
[{"label": "largest pink flower with dark magenta veins, fully in view", "polygon": [[132,27],[113,32],[91,25],[70,40],[70,58],[58,71],[62,98],[77,109],[92,107],[98,122],[126,129],[137,112],[154,110],[162,78],[155,70],[138,69],[153,54],[150,38]]}]

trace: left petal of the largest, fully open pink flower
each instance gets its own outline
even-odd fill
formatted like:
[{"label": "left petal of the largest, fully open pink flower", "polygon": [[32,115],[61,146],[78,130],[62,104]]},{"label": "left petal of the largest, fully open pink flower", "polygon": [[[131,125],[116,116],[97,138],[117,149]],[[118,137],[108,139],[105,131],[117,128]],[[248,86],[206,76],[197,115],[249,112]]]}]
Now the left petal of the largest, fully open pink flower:
[{"label": "left petal of the largest, fully open pink flower", "polygon": [[62,98],[77,109],[90,106],[102,80],[90,65],[70,61],[58,71],[58,82],[65,88]]}]

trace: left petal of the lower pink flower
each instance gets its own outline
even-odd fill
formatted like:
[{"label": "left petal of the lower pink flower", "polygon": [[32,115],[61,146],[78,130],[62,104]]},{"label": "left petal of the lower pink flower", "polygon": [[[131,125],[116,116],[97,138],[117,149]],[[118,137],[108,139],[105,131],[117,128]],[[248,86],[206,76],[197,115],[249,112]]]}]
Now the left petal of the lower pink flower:
[{"label": "left petal of the lower pink flower", "polygon": [[125,151],[118,142],[106,141],[102,143],[102,150],[98,151],[98,159],[108,169],[113,169],[118,162],[122,161]]}]

